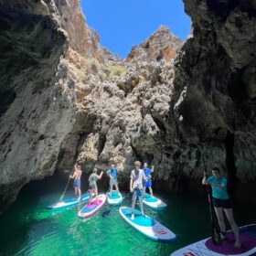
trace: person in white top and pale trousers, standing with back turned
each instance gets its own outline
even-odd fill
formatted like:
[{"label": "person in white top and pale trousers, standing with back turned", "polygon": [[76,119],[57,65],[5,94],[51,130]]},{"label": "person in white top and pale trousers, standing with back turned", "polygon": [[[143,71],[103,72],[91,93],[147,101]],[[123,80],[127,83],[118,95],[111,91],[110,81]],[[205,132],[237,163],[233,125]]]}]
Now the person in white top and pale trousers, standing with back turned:
[{"label": "person in white top and pale trousers, standing with back turned", "polygon": [[132,219],[134,219],[134,206],[136,202],[136,198],[139,197],[140,208],[142,215],[144,215],[144,204],[143,204],[143,182],[146,179],[144,175],[144,171],[140,168],[141,162],[134,162],[134,170],[131,173],[130,179],[130,191],[133,193],[132,199]]}]

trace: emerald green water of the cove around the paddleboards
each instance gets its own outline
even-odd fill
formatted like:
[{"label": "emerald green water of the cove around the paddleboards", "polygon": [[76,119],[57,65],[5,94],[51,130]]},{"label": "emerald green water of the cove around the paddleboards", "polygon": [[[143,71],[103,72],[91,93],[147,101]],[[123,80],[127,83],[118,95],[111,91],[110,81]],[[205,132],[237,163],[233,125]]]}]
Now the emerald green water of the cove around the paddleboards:
[{"label": "emerald green water of the cove around the paddleboards", "polygon": [[[0,216],[0,255],[169,255],[210,234],[204,196],[158,194],[167,203],[166,209],[155,211],[144,206],[147,215],[176,233],[177,240],[168,244],[149,240],[129,226],[119,207],[102,218],[101,213],[109,208],[107,203],[90,219],[78,218],[80,207],[48,210],[59,196],[56,192],[38,195],[23,191]],[[66,198],[71,196],[69,191]],[[123,200],[123,206],[130,204],[131,197]],[[256,222],[255,206],[238,205],[235,214],[240,225]]]}]

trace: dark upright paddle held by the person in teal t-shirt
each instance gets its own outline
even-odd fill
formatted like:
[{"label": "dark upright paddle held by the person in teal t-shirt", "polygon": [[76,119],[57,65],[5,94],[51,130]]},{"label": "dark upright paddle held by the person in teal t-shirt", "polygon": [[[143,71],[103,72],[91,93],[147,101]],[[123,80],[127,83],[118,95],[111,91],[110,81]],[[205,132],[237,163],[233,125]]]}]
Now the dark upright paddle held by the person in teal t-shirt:
[{"label": "dark upright paddle held by the person in teal t-shirt", "polygon": [[[205,163],[205,155],[203,155],[203,162],[204,162],[204,175],[207,175],[207,169],[206,169],[206,163]],[[208,206],[209,206],[209,214],[211,219],[211,239],[213,244],[215,245],[222,245],[222,239],[221,239],[221,230],[219,229],[219,223],[216,219],[214,212],[213,212],[213,203],[212,203],[212,197],[211,193],[209,191],[209,186],[207,185],[207,191],[208,191]]]}]

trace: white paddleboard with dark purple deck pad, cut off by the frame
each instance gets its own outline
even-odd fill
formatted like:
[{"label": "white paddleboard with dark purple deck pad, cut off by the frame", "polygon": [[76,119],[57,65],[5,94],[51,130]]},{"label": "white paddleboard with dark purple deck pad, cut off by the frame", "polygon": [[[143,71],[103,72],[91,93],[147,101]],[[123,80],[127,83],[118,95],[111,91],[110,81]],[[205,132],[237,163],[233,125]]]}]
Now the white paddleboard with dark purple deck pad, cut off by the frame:
[{"label": "white paddleboard with dark purple deck pad, cut off by the frame", "polygon": [[233,232],[229,230],[227,239],[223,240],[221,246],[214,245],[211,238],[208,238],[175,251],[171,256],[256,255],[256,224],[240,227],[240,242],[241,247],[236,248],[234,246],[235,237]]}]

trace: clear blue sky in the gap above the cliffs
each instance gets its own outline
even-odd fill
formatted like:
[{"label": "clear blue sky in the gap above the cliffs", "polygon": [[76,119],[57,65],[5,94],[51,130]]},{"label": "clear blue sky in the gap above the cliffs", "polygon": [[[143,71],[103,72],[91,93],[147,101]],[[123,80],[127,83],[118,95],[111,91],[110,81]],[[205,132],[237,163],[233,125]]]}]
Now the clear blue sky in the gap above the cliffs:
[{"label": "clear blue sky in the gap above the cliffs", "polygon": [[127,56],[160,25],[168,26],[183,40],[190,31],[190,18],[182,0],[80,0],[90,27],[101,37],[101,45]]}]

